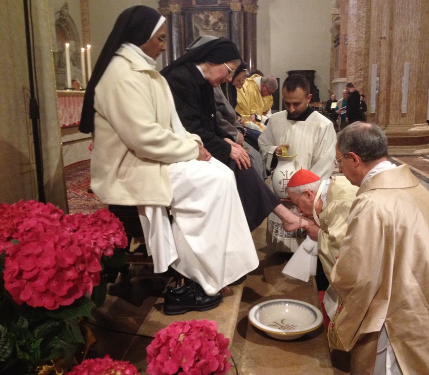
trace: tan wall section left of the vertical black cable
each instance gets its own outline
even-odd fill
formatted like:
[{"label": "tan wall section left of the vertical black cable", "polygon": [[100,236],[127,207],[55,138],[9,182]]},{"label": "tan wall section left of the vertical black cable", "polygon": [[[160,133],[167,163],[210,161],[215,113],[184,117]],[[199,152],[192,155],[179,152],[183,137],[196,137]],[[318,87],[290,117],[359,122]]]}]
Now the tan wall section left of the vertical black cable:
[{"label": "tan wall section left of the vertical black cable", "polygon": [[[28,117],[28,69],[24,11],[0,2],[0,202],[31,199],[37,193],[32,132]],[[4,53],[7,51],[7,53]]]}]

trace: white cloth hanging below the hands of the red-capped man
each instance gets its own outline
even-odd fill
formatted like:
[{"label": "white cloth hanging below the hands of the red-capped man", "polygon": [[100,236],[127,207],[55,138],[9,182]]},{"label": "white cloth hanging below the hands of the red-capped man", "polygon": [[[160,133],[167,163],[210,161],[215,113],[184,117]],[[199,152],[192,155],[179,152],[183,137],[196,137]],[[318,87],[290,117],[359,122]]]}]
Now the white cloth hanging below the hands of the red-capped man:
[{"label": "white cloth hanging below the hands of the red-capped man", "polygon": [[317,267],[317,241],[309,236],[293,253],[282,273],[302,281],[309,281],[310,276],[316,274]]}]

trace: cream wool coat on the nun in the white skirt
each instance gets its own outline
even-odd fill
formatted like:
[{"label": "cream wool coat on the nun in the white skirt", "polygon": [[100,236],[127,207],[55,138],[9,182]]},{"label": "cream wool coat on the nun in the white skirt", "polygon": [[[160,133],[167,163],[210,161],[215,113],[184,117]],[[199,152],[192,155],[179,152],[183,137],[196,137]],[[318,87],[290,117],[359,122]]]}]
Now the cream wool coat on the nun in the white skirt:
[{"label": "cream wool coat on the nun in the white skirt", "polygon": [[137,53],[119,48],[95,89],[91,188],[101,202],[169,206],[167,167],[198,157],[200,138],[172,128],[169,87]]}]

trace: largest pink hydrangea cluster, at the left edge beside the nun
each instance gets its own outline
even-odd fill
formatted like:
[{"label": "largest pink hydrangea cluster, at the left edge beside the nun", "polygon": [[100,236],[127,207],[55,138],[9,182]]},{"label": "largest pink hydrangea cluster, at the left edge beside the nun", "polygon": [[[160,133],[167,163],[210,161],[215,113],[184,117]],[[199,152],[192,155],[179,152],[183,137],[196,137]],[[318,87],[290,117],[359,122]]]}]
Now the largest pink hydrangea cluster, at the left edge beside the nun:
[{"label": "largest pink hydrangea cluster, at the left edge beside the nun", "polygon": [[122,223],[107,208],[64,216],[50,203],[20,201],[0,204],[0,223],[5,289],[19,305],[49,310],[91,294],[100,283],[101,256],[127,244]]}]

